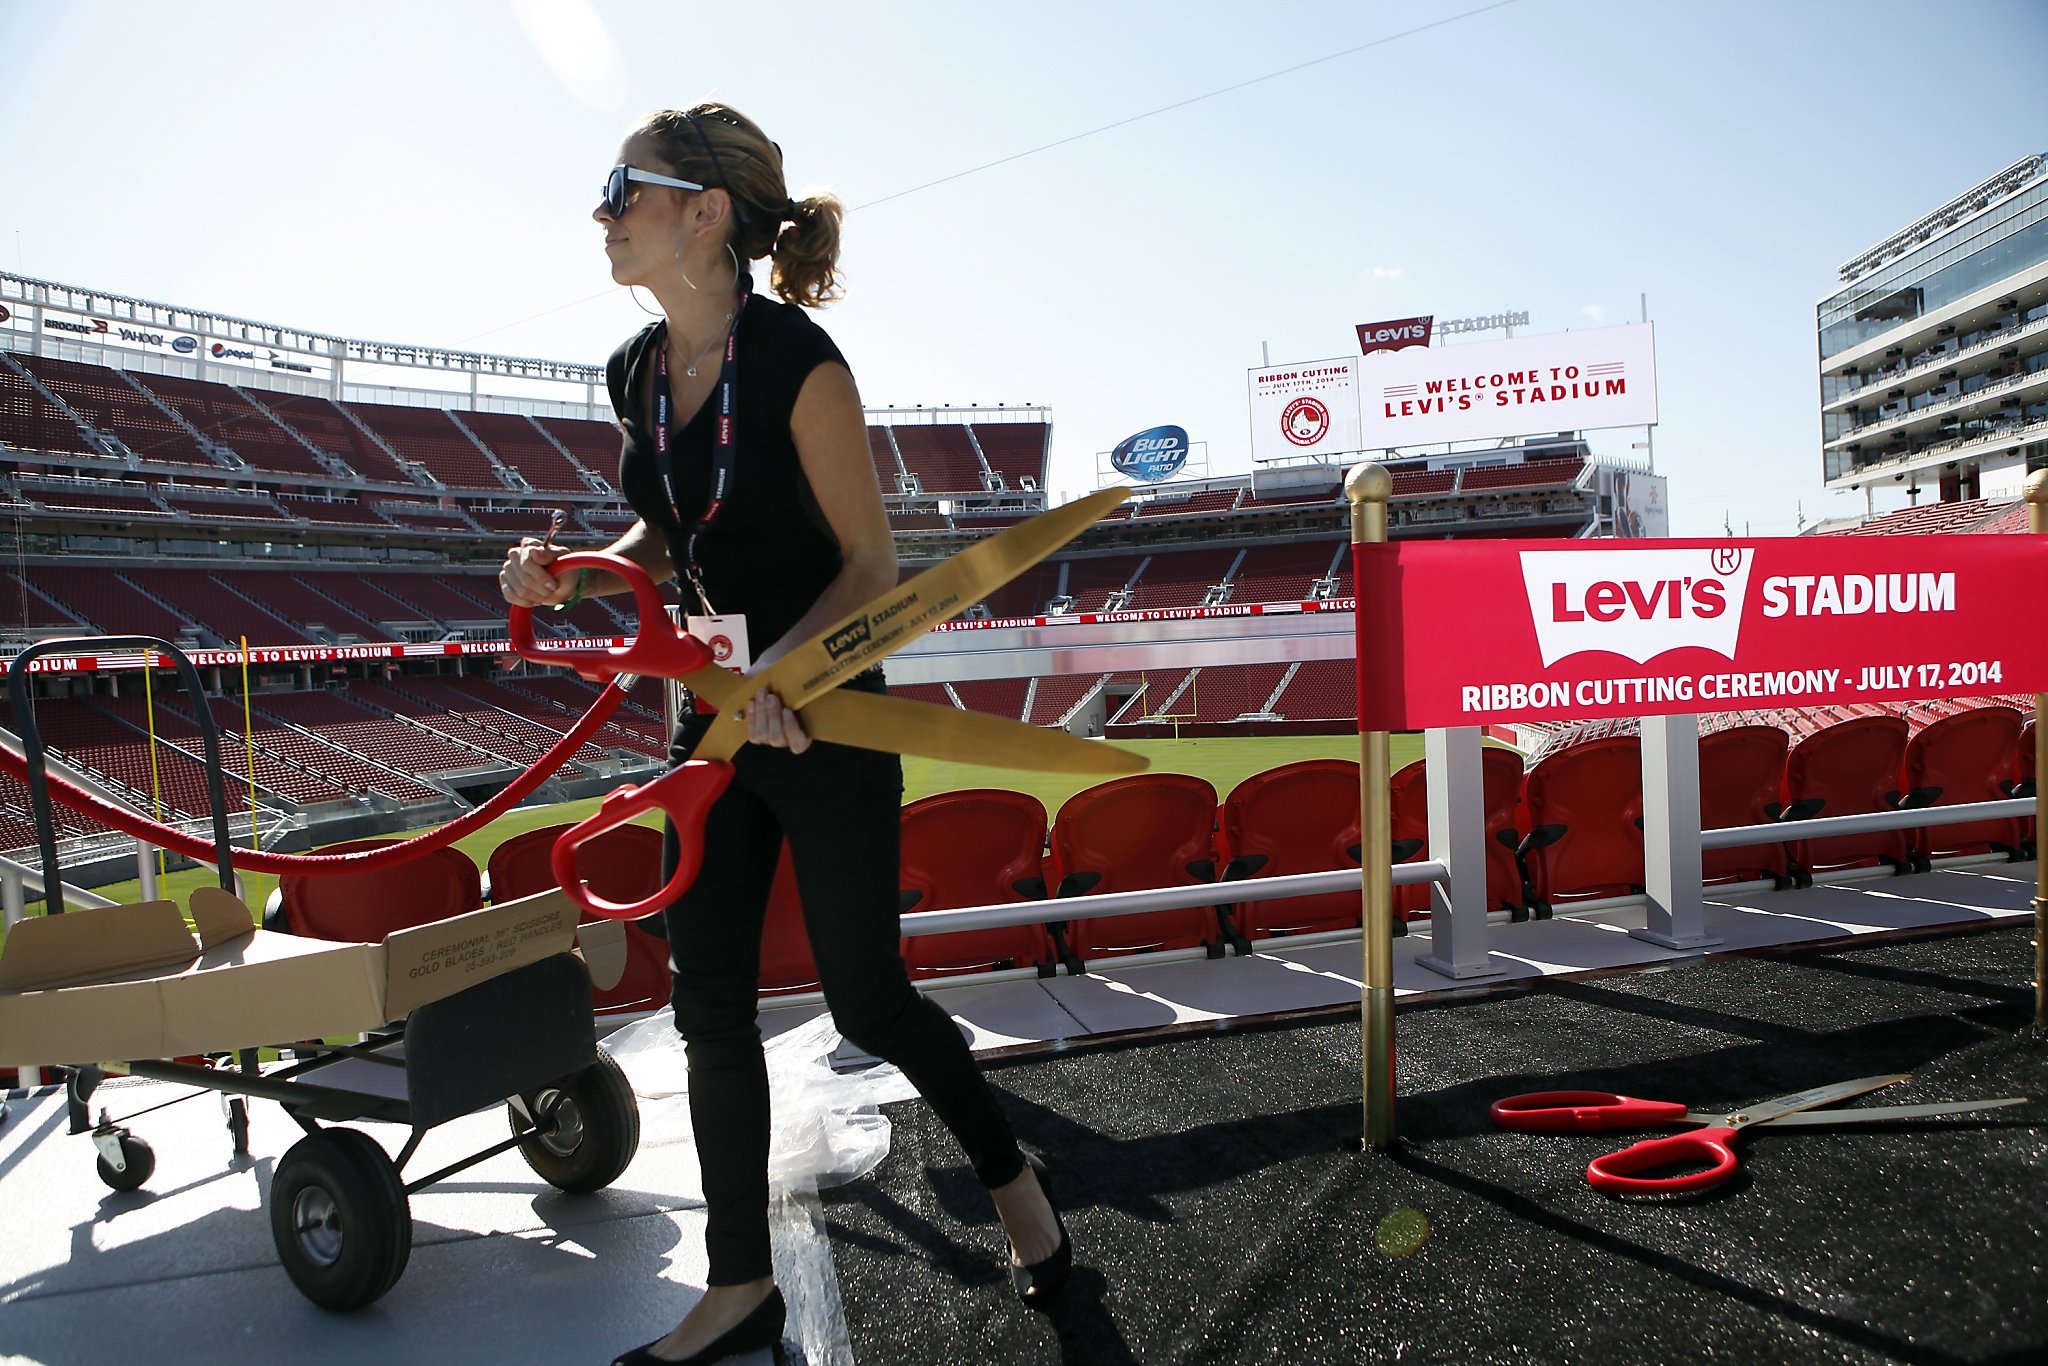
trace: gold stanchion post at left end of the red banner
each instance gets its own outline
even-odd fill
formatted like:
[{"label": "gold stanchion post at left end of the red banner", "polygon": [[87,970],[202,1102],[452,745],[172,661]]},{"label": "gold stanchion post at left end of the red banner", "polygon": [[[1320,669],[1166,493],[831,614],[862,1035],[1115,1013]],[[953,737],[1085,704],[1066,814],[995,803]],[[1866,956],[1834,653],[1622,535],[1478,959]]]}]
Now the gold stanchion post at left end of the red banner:
[{"label": "gold stanchion post at left end of the red banner", "polygon": [[[1386,541],[1393,475],[1384,465],[1352,465],[1343,496],[1352,502],[1352,545]],[[1354,549],[1356,553],[1356,549]],[[1364,600],[1358,612],[1366,610]],[[1386,731],[1358,731],[1358,868],[1364,895],[1366,983],[1360,1001],[1366,1073],[1366,1149],[1395,1141],[1395,870],[1386,813]]]}]

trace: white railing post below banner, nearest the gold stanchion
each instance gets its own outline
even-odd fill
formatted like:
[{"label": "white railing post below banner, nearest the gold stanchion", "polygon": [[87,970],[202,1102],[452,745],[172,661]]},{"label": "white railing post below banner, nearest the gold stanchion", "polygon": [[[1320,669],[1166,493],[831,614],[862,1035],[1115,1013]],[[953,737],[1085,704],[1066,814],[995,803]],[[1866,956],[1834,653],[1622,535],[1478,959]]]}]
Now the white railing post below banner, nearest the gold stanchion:
[{"label": "white railing post below banner, nearest the gold stanchion", "polygon": [[1487,782],[1477,725],[1423,731],[1430,772],[1430,858],[1450,877],[1430,883],[1430,952],[1423,967],[1460,981],[1501,977],[1487,952]]}]

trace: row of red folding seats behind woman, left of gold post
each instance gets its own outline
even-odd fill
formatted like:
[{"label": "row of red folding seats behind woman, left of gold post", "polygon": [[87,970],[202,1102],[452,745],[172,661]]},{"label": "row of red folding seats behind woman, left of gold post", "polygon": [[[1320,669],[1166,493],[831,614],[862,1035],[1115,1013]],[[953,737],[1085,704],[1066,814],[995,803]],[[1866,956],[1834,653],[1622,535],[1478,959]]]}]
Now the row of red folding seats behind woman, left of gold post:
[{"label": "row of red folding seats behind woman, left of gold post", "polygon": [[[1350,823],[1343,823],[1343,811]],[[1327,817],[1335,813],[1337,821]],[[1319,825],[1309,829],[1311,821]],[[1212,842],[1212,827],[1217,842]],[[1327,829],[1323,829],[1327,827]],[[553,885],[549,852],[561,825],[506,840],[489,858],[489,895],[516,899]],[[393,840],[354,840],[326,852],[381,848]],[[614,901],[637,901],[659,887],[662,836],[627,825],[592,842],[584,854],[592,887]],[[903,909],[1073,897],[1278,877],[1358,866],[1358,766],[1309,760],[1247,778],[1221,809],[1214,788],[1186,774],[1120,778],[1069,799],[1051,831],[1034,797],[993,788],[942,793],[903,807]],[[788,850],[770,891],[762,936],[762,991],[817,987],[803,932],[803,907]],[[379,940],[393,930],[475,909],[483,879],[461,850],[446,848],[397,868],[342,877],[281,879],[272,928],[330,940]],[[1288,934],[1356,924],[1358,897],[1335,893],[1188,911],[1112,915],[1055,926],[975,930],[903,940],[913,977],[944,977],[1008,967],[1051,973],[1083,958],[1208,944],[1221,954],[1245,936]],[[668,946],[643,926],[629,930],[625,979],[598,997],[600,1010],[653,1010],[668,1001]]]}]

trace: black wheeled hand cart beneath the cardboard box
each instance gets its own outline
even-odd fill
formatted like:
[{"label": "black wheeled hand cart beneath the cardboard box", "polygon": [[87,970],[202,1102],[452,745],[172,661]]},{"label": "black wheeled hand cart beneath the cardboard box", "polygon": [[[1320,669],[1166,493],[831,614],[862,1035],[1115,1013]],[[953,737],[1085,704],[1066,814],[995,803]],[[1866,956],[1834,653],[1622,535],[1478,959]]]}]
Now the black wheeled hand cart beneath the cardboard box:
[{"label": "black wheeled hand cart beneath the cardboard box", "polygon": [[[63,905],[61,866],[45,748],[27,690],[29,664],[51,649],[152,649],[178,666],[195,698],[203,692],[184,653],[150,637],[41,641],[10,664],[8,686],[43,850],[45,903],[55,915]],[[209,709],[197,707],[195,713],[205,739],[221,887],[231,891],[233,850],[227,840],[219,739]],[[90,917],[94,911],[76,915]],[[219,983],[221,991],[231,991],[236,971],[215,969],[211,977],[188,973],[186,981],[197,979],[207,987]],[[20,1004],[27,1008],[35,1001]],[[72,1133],[92,1135],[100,1180],[115,1190],[141,1188],[156,1155],[104,1110],[98,1122],[92,1120],[90,1102],[106,1073],[223,1094],[236,1153],[248,1149],[248,1100],[281,1104],[305,1128],[305,1137],[287,1149],[270,1180],[270,1237],[293,1284],[328,1309],[360,1309],[397,1284],[412,1255],[412,1192],[514,1147],[559,1190],[602,1190],[639,1149],[639,1108],[618,1063],[598,1049],[590,973],[573,952],[549,952],[438,999],[420,1001],[403,1020],[371,1030],[360,1042],[287,1040],[279,1057],[279,1063],[264,1067],[256,1049],[236,1049],[217,1067],[184,1059],[135,1059],[68,1065],[59,1073]],[[430,1128],[496,1104],[504,1104],[508,1112],[506,1139],[436,1171],[406,1178],[406,1167]],[[344,1126],[352,1120],[406,1124],[412,1133],[391,1157],[371,1135]]]}]

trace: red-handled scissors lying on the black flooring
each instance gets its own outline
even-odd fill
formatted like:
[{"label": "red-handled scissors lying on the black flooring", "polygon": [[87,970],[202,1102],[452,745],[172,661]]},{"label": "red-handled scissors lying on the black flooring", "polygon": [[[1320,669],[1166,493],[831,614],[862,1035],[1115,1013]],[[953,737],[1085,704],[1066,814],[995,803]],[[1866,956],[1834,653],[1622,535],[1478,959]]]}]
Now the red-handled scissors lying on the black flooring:
[{"label": "red-handled scissors lying on the black flooring", "polygon": [[[1507,1096],[1491,1106],[1493,1122],[1522,1133],[1597,1133],[1602,1128],[1651,1128],[1657,1124],[1704,1124],[1704,1128],[1665,1139],[1645,1139],[1618,1153],[1595,1157],[1585,1167],[1593,1190],[1610,1196],[1665,1196],[1688,1190],[1708,1190],[1735,1176],[1735,1135],[1759,1124],[1825,1126],[1878,1124],[1917,1120],[1933,1114],[1970,1114],[1999,1106],[2023,1106],[2025,1096],[2003,1100],[1956,1100],[1929,1106],[1870,1106],[1866,1110],[1819,1110],[1819,1106],[1864,1096],[1905,1081],[1907,1073],[1890,1077],[1858,1077],[1817,1085],[1810,1092],[1778,1096],[1743,1110],[1698,1112],[1673,1100],[1636,1100],[1612,1092],[1528,1092]],[[1696,1167],[1677,1176],[1636,1176],[1657,1167]]]}]

